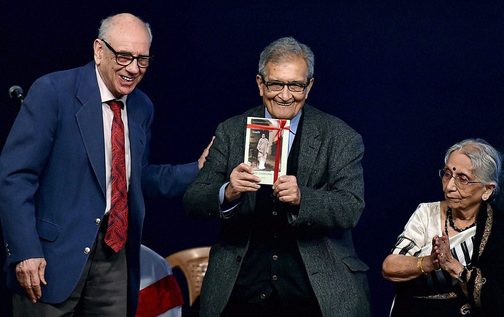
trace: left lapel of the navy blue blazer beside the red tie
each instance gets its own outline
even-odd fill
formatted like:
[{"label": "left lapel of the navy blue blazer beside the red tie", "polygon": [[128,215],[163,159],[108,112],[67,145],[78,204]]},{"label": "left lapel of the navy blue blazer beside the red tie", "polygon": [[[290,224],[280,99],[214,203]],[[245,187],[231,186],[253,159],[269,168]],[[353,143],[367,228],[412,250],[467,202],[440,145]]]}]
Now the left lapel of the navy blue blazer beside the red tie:
[{"label": "left lapel of the navy blue blazer beside the red tie", "polygon": [[100,90],[96,81],[94,62],[84,68],[77,90],[77,100],[82,107],[75,115],[89,162],[106,196],[105,144],[103,137],[103,114]]}]

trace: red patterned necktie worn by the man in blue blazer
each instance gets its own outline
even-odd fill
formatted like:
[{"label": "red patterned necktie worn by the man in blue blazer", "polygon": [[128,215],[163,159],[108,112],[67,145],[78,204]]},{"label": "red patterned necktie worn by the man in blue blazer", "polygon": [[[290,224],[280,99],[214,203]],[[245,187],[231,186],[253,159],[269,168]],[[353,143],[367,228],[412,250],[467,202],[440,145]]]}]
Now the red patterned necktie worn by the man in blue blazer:
[{"label": "red patterned necktie worn by the man in blue blazer", "polygon": [[119,252],[128,234],[128,186],[126,183],[126,159],[124,152],[124,124],[121,119],[122,101],[106,102],[114,112],[112,120],[112,198],[105,243]]}]

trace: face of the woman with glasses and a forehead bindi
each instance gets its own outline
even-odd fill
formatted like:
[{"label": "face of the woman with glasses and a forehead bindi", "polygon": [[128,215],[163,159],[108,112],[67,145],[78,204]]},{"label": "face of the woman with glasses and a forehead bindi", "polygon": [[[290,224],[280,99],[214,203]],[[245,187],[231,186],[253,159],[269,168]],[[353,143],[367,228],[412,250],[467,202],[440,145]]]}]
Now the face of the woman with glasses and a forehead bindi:
[{"label": "face of the woman with glasses and a forehead bindi", "polygon": [[452,209],[477,212],[481,202],[487,200],[495,188],[493,183],[486,186],[480,183],[465,186],[455,184],[455,177],[466,177],[470,182],[479,181],[474,176],[472,167],[473,164],[469,156],[459,150],[453,151],[448,157],[445,169],[449,169],[453,177],[449,180],[443,178],[443,191],[448,206]]}]

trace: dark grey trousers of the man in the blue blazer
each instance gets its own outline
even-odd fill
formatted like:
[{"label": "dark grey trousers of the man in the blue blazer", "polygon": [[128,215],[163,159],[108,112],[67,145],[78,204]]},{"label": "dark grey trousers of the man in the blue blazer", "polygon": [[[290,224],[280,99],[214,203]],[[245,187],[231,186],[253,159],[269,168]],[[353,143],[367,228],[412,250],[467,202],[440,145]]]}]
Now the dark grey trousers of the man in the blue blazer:
[{"label": "dark grey trousers of the man in the blue blazer", "polygon": [[[108,217],[100,226],[82,276],[67,300],[58,304],[13,295],[13,316],[109,316],[124,317],[127,313],[128,266],[122,248],[115,253],[104,242]],[[50,265],[48,263],[47,265]],[[49,284],[51,281],[48,280]]]}]

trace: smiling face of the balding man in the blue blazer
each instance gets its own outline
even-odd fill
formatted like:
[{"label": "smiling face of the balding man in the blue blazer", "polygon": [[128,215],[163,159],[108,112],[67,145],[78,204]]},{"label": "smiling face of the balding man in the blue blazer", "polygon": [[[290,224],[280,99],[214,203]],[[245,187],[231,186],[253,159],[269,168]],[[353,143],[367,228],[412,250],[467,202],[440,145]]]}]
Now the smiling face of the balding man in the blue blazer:
[{"label": "smiling face of the balding man in the blue blazer", "polygon": [[[129,53],[134,56],[149,55],[149,33],[145,25],[134,16],[114,17],[113,24],[104,40],[118,53]],[[115,55],[100,39],[94,42],[94,59],[103,82],[116,98],[130,94],[140,83],[146,71],[146,68],[138,67],[136,60],[128,66],[117,64]]]}]

